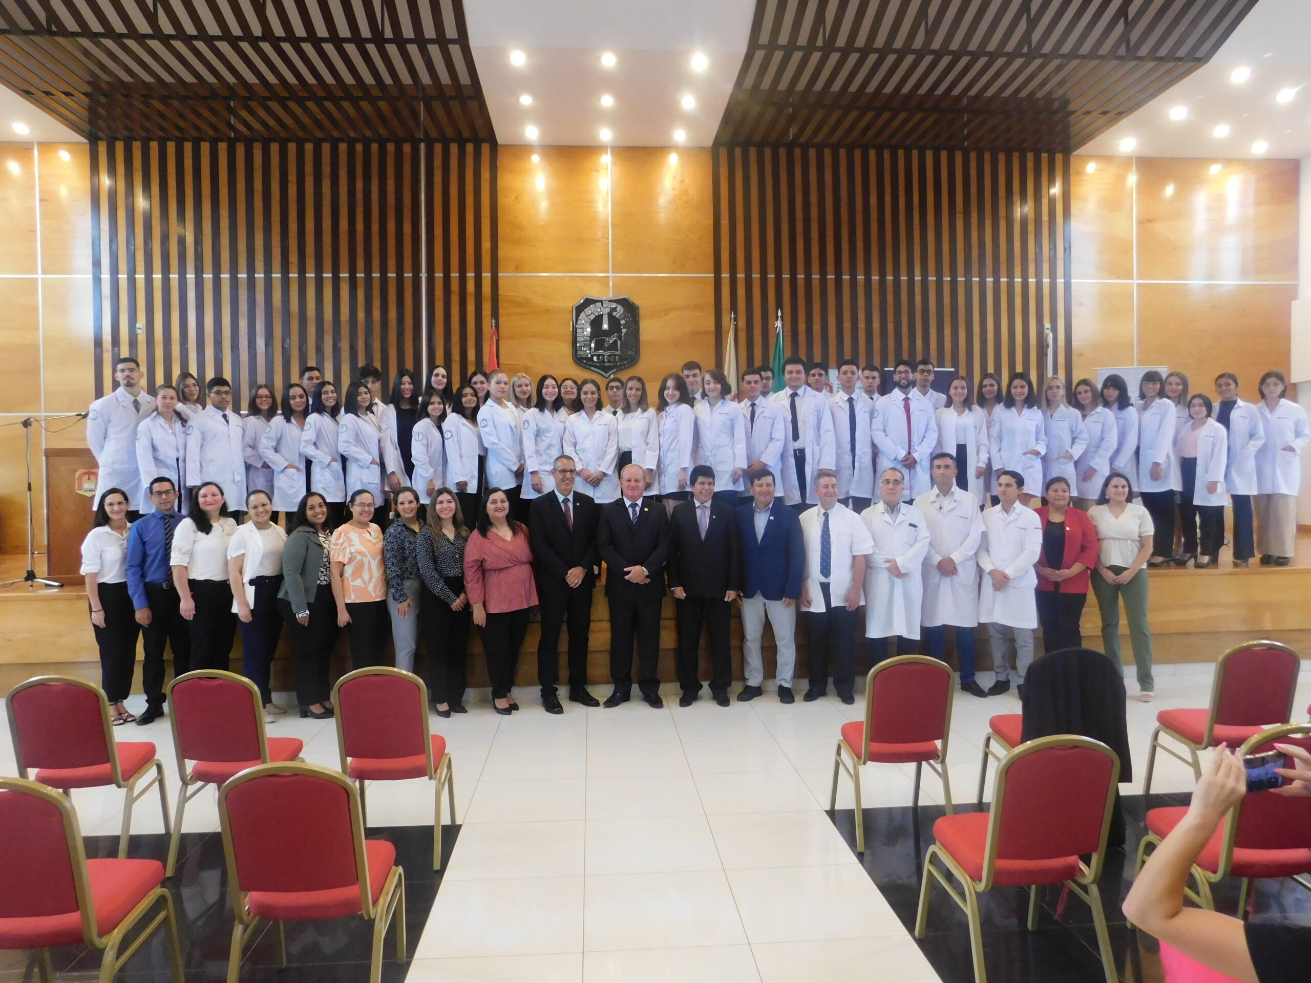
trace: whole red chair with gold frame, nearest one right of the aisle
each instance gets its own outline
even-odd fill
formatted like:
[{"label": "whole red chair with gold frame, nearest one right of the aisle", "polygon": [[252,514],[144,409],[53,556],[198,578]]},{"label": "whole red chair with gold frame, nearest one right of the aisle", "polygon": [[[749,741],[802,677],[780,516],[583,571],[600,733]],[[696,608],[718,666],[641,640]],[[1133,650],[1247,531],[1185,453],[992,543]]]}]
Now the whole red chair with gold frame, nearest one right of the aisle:
[{"label": "whole red chair with gold frame, nearest one right of the aisle", "polygon": [[[1065,883],[1092,908],[1106,983],[1117,983],[1097,878],[1118,781],[1120,759],[1100,741],[1058,734],[1013,748],[998,765],[987,813],[944,815],[933,823],[937,841],[924,857],[915,937],[924,937],[936,878],[969,916],[974,979],[986,983],[978,893],[1003,885],[1028,887],[1032,932],[1038,921],[1038,887]],[[1087,864],[1083,856],[1089,857]]]}]

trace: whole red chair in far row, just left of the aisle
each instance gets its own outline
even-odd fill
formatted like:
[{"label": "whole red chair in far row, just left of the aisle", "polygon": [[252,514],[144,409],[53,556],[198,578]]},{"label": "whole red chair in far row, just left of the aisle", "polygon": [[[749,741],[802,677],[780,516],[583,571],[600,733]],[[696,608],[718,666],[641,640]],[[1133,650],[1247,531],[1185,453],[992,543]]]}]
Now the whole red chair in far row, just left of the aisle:
[{"label": "whole red chair in far row, just left of the aisle", "polygon": [[332,691],[341,769],[359,786],[368,824],[366,781],[427,779],[435,782],[433,869],[442,869],[442,790],[455,822],[455,772],[446,738],[429,730],[427,685],[413,672],[387,666],[357,668]]}]

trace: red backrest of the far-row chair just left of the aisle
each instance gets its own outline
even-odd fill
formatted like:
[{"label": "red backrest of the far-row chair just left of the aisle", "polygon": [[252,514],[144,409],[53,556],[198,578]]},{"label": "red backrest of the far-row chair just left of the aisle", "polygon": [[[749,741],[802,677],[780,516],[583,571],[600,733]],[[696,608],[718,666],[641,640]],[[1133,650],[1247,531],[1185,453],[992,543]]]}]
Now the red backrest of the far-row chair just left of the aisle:
[{"label": "red backrest of the far-row chair just left of the aisle", "polygon": [[427,722],[427,687],[413,672],[387,666],[358,668],[333,688],[342,771],[349,758],[413,758],[433,743]]}]

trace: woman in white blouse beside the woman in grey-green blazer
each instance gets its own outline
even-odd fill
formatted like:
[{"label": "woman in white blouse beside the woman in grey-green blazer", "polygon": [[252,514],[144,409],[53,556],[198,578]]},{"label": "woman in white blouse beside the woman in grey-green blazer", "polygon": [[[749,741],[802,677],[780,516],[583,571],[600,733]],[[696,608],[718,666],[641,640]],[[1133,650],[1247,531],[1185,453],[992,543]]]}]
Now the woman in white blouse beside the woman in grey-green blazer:
[{"label": "woman in white blouse beside the woman in grey-green blazer", "polygon": [[278,591],[287,533],[273,524],[273,499],[267,492],[246,494],[246,515],[249,520],[228,540],[228,583],[232,613],[241,624],[241,675],[260,687],[264,722],[273,723],[273,714],[286,713],[273,701],[269,674],[282,637]]}]

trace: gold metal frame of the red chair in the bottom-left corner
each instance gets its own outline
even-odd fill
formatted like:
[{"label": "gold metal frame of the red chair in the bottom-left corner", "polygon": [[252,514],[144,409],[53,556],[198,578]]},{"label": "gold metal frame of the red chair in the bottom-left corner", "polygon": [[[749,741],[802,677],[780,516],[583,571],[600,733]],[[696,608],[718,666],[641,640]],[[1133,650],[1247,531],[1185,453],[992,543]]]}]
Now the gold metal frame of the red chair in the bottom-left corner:
[{"label": "gold metal frame of the red chair in the bottom-left corner", "polygon": [[[132,908],[127,916],[118,923],[113,932],[101,936],[96,928],[96,902],[90,893],[90,877],[87,872],[87,848],[83,845],[81,828],[77,824],[77,814],[73,811],[68,798],[49,785],[30,779],[0,779],[0,790],[18,792],[33,796],[54,805],[64,823],[64,839],[68,841],[68,857],[72,864],[73,890],[77,894],[77,908],[81,912],[83,938],[93,949],[100,949],[100,983],[110,983],[114,974],[132,958],[142,944],[149,938],[151,933],[163,923],[168,928],[168,957],[176,983],[184,983],[182,976],[182,946],[177,935],[177,915],[173,910],[173,896],[163,887],[156,887],[147,894]],[[122,857],[119,857],[122,860]],[[146,928],[123,949],[127,933],[146,916],[156,904],[163,902],[163,911],[157,912]],[[119,952],[122,950],[122,952]],[[39,949],[35,955],[37,973],[42,983],[54,983],[55,970],[50,961],[50,949]]]}]

